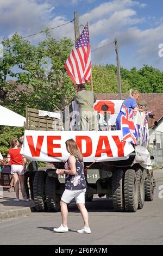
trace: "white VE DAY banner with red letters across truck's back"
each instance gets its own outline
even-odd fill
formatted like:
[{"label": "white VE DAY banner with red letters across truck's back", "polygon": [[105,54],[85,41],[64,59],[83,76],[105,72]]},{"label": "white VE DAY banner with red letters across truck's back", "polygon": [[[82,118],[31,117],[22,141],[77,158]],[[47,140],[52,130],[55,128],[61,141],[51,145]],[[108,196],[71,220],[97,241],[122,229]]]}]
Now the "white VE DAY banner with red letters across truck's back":
[{"label": "white VE DAY banner with red letters across truck's back", "polygon": [[85,162],[128,159],[134,151],[129,142],[121,141],[121,131],[25,131],[21,149],[33,161],[66,161],[65,142],[73,138]]}]

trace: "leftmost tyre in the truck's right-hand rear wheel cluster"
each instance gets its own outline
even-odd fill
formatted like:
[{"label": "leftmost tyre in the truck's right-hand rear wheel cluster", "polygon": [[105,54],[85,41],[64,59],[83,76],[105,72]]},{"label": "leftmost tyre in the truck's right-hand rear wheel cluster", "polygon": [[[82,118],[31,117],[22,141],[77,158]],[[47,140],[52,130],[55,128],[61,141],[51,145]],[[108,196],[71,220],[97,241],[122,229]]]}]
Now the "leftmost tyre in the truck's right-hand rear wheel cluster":
[{"label": "leftmost tyre in the truck's right-hand rear wheel cluster", "polygon": [[112,173],[112,202],[117,211],[124,210],[123,176],[124,172],[121,169]]}]

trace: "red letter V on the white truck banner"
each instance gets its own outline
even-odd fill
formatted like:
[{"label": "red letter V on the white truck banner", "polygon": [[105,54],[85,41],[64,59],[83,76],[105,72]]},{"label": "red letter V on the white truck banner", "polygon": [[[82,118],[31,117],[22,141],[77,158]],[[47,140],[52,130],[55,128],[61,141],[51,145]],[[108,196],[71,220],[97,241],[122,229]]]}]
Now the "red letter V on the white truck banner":
[{"label": "red letter V on the white truck banner", "polygon": [[31,152],[32,156],[40,156],[44,136],[38,136],[36,149],[34,147],[33,137],[32,136],[26,136],[26,138],[27,138],[27,142],[28,142],[29,149],[30,149],[30,152]]}]

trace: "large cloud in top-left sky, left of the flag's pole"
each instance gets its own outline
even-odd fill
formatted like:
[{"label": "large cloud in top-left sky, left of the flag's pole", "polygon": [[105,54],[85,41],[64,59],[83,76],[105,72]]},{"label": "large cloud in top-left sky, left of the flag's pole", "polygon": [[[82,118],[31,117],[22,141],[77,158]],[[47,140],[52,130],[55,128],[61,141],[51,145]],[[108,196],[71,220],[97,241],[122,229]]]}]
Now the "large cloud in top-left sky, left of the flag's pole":
[{"label": "large cloud in top-left sky, left of the flag's pole", "polygon": [[[1,34],[8,31],[9,37],[18,32],[23,36],[28,36],[45,30],[47,27],[57,27],[70,20],[65,16],[52,16],[54,6],[49,3],[37,3],[36,0],[1,0],[0,24]],[[2,28],[4,28],[2,30]],[[62,36],[74,38],[74,26],[66,26],[51,31],[55,39],[59,40]],[[45,34],[38,34],[27,38],[32,43],[45,39]]]}]

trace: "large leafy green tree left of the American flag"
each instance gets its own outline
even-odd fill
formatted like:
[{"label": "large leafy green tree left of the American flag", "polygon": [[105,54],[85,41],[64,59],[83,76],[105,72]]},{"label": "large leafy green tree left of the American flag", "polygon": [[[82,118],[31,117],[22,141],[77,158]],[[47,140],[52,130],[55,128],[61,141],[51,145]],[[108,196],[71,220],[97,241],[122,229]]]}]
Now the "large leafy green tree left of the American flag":
[{"label": "large leafy green tree left of the American flag", "polygon": [[[21,69],[15,74],[8,72],[17,79],[15,87],[16,84],[26,85],[25,90],[12,93],[13,97],[5,97],[4,105],[21,114],[25,113],[26,106],[48,111],[64,108],[74,94],[73,84],[64,68],[72,48],[71,40],[63,38],[58,42],[48,35],[46,40],[34,46],[15,34],[10,40],[4,39],[3,44],[5,56],[10,52],[12,64]],[[9,70],[11,68],[12,65]]]}]

